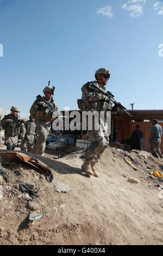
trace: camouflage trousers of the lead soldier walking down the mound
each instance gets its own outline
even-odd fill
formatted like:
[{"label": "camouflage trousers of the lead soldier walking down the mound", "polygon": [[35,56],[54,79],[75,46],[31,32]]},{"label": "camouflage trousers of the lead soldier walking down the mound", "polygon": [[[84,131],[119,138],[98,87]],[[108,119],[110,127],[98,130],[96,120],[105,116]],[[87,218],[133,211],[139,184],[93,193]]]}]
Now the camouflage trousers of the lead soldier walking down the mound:
[{"label": "camouflage trousers of the lead soldier walking down the mound", "polygon": [[87,136],[92,144],[87,148],[85,161],[98,162],[99,157],[109,144],[109,135],[104,135],[103,130],[99,127],[98,131],[87,131]]}]

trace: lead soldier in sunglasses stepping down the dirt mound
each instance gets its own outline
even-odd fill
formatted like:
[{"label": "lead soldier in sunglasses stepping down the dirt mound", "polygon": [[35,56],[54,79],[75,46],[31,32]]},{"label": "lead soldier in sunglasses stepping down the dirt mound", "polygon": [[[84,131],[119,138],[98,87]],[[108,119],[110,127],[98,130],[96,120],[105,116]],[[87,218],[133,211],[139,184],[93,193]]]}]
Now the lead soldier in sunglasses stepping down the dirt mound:
[{"label": "lead soldier in sunglasses stepping down the dirt mound", "polygon": [[[96,81],[84,84],[82,87],[82,100],[78,101],[78,106],[82,111],[97,111],[98,113],[100,113],[100,111],[111,111],[111,104],[106,102],[108,100],[108,96],[105,96],[102,93],[92,92],[92,90],[89,89],[89,86],[95,83],[97,87],[106,93],[105,86],[108,83],[109,77],[110,71],[105,68],[100,68],[95,73]],[[98,162],[101,154],[109,144],[109,134],[104,134],[100,125],[98,126],[99,129],[95,130],[95,125],[94,120],[92,130],[87,130],[87,135],[92,142],[92,145],[87,148],[85,162],[82,165],[82,169],[86,174],[98,177],[95,170],[95,164]],[[93,173],[89,170],[89,166],[91,166]]]}]

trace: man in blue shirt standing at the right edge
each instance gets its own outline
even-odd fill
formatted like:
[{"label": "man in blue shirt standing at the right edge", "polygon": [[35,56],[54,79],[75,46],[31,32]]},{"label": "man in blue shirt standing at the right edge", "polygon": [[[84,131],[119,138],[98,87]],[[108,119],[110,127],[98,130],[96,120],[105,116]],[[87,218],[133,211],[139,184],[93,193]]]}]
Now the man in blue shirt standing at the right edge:
[{"label": "man in blue shirt standing at the right edge", "polygon": [[160,150],[161,136],[162,136],[162,127],[158,124],[157,120],[152,122],[151,135],[148,139],[148,142],[151,143],[151,153],[157,158],[163,158]]}]

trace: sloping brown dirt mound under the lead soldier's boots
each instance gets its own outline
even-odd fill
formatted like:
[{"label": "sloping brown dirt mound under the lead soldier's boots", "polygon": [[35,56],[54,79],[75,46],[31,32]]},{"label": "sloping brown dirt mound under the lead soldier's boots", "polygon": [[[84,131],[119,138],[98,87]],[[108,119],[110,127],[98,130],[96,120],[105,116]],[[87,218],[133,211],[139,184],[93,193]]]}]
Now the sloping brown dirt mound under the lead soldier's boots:
[{"label": "sloping brown dirt mound under the lead soldier's boots", "polygon": [[[109,147],[95,178],[82,173],[83,153],[57,160],[49,151],[45,157],[27,155],[53,168],[54,179],[1,157],[9,179],[1,185],[1,245],[163,245],[163,182],[152,174],[162,172],[162,160]],[[58,193],[54,180],[72,191]],[[33,185],[39,197],[22,193],[20,182]],[[43,216],[30,223],[32,211]]]}]

